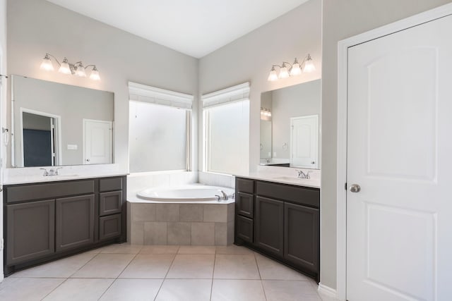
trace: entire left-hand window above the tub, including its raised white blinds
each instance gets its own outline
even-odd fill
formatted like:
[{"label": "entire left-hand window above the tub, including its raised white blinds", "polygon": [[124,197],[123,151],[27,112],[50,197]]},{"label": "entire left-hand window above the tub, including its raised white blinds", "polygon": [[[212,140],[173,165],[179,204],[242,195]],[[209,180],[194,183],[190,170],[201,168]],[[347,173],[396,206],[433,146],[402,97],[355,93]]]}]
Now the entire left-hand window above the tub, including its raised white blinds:
[{"label": "entire left-hand window above the tub, including its raised white blinds", "polygon": [[189,170],[193,97],[130,82],[129,91],[130,172]]}]

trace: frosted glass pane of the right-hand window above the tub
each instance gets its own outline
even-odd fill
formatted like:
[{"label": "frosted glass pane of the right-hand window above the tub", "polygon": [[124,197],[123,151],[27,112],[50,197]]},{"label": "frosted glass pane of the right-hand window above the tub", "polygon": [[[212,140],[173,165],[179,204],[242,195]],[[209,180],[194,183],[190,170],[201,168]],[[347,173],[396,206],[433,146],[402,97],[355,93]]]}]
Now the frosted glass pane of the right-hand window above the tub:
[{"label": "frosted glass pane of the right-hand window above the tub", "polygon": [[249,171],[249,100],[204,109],[205,170]]}]

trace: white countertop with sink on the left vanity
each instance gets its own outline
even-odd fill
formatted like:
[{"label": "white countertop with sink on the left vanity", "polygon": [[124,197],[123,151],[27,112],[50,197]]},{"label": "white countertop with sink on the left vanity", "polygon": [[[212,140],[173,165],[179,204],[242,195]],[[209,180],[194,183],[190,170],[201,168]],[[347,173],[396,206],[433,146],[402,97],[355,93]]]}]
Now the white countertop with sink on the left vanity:
[{"label": "white countertop with sink on the left vanity", "polygon": [[[63,180],[80,180],[88,178],[105,178],[126,176],[128,173],[119,171],[117,164],[99,164],[83,166],[61,166],[58,176],[42,176],[40,167],[6,168],[4,169],[3,185],[26,183],[46,183]],[[44,167],[42,167],[44,168]],[[47,171],[53,166],[45,166]]]}]

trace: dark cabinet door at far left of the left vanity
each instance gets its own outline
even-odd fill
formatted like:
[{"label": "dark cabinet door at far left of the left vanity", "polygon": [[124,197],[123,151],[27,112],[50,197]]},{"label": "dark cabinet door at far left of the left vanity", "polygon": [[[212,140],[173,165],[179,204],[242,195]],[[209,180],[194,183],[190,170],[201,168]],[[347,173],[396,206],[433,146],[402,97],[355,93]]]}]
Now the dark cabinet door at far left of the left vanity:
[{"label": "dark cabinet door at far left of the left vanity", "polygon": [[6,265],[55,252],[54,199],[7,205],[6,219]]}]

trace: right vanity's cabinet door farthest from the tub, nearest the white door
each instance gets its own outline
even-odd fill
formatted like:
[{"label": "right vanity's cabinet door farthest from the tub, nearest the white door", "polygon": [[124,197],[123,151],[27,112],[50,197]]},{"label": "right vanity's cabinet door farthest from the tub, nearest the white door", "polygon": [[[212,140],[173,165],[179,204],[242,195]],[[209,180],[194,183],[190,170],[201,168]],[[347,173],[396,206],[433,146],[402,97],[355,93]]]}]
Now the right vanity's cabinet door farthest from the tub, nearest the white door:
[{"label": "right vanity's cabinet door farthest from the tub, nearest the white door", "polygon": [[319,273],[319,209],[284,204],[284,257]]}]

